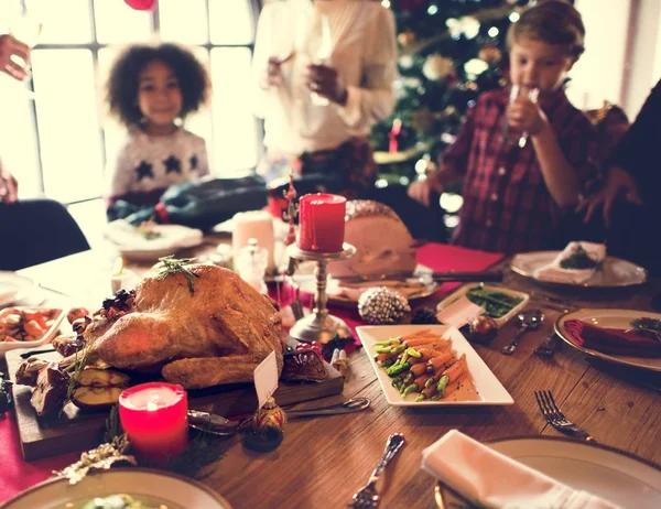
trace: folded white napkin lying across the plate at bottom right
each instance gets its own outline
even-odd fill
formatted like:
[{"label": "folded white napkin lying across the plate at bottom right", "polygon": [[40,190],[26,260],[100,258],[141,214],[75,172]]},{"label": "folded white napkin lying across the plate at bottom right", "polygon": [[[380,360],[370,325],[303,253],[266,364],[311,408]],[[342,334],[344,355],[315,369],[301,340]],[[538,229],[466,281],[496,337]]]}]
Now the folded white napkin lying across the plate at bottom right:
[{"label": "folded white napkin lying across the plate at bottom right", "polygon": [[457,430],[422,452],[422,469],[470,502],[502,509],[618,509],[570,488]]}]

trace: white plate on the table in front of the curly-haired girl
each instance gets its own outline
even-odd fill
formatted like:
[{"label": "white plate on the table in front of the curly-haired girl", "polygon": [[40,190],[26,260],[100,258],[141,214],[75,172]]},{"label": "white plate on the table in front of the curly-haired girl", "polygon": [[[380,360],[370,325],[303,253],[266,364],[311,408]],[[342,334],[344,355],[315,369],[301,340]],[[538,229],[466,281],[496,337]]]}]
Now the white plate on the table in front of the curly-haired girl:
[{"label": "white plate on the table in front of the curly-haired girl", "polygon": [[127,221],[116,220],[106,226],[104,235],[122,257],[136,261],[155,261],[174,254],[178,249],[198,246],[204,237],[202,230],[181,225],[154,225],[153,230],[161,237],[148,240]]}]

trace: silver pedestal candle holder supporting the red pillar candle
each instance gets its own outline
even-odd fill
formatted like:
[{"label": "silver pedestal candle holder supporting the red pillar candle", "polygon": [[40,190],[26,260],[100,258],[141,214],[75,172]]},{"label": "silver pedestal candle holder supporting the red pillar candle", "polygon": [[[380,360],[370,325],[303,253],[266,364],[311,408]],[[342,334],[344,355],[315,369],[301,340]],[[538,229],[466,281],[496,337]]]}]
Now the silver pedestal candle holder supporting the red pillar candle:
[{"label": "silver pedestal candle holder supporting the red pillar candle", "polygon": [[314,271],[317,289],[314,297],[314,308],[312,314],[299,320],[290,331],[290,336],[304,343],[319,342],[326,344],[336,335],[342,338],[350,338],[351,332],[344,322],[328,314],[326,303],[328,295],[326,294],[326,279],[328,275],[327,266],[329,261],[348,260],[356,253],[356,248],[350,243],[344,243],[343,250],[338,252],[317,252],[304,251],[297,245],[292,243],[286,248],[286,252],[291,258],[297,260],[316,261],[317,268]]}]

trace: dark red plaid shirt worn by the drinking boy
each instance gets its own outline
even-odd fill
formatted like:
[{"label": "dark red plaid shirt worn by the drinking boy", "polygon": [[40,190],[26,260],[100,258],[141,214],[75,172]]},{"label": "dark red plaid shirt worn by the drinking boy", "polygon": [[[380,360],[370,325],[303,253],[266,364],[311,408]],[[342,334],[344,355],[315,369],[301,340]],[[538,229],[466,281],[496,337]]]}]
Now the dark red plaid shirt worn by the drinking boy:
[{"label": "dark red plaid shirt worn by the drinking boy", "polygon": [[[483,94],[469,109],[442,164],[465,172],[464,205],[454,243],[505,253],[556,248],[560,207],[542,176],[532,141],[520,149],[502,142],[509,89]],[[594,181],[594,128],[564,90],[544,113],[582,185]]]}]

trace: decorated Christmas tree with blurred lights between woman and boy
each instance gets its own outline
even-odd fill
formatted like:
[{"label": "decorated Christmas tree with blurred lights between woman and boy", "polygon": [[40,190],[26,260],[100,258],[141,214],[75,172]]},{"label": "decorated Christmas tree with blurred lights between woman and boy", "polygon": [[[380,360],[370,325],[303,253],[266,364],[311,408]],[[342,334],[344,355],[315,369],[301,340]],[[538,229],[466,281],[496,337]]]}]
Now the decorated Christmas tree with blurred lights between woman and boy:
[{"label": "decorated Christmas tree with blurred lights between woman and boy", "polygon": [[534,2],[383,1],[397,22],[400,79],[392,116],[370,137],[382,177],[407,183],[434,166],[472,101],[505,85],[507,30]]}]

